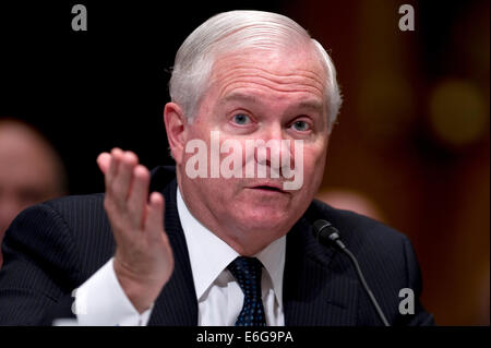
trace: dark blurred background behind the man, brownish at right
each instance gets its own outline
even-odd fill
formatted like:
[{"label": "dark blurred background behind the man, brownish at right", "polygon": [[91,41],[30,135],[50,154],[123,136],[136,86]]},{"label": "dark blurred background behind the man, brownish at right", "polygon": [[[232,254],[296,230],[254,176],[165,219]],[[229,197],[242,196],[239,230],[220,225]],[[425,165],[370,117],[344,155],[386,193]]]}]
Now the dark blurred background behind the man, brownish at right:
[{"label": "dark blurred background behind the man, brownish at right", "polygon": [[[75,3],[87,32],[71,28]],[[398,29],[404,3],[415,32]],[[489,1],[2,1],[0,117],[52,142],[72,194],[104,190],[95,159],[113,146],[171,164],[175,53],[232,9],[286,14],[330,50],[345,103],[323,191],[368,197],[410,237],[439,324],[489,325]]]}]

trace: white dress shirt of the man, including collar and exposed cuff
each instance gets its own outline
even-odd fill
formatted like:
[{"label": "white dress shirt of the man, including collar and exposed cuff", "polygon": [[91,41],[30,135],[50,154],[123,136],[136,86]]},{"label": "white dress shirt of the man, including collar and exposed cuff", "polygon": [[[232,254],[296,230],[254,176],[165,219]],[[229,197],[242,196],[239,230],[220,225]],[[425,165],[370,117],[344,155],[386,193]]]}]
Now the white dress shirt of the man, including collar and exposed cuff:
[{"label": "white dress shirt of the man, including collar and exposed cuff", "polygon": [[[184,231],[197,298],[197,325],[233,325],[243,304],[243,292],[227,265],[239,254],[189,212],[177,190],[179,219]],[[263,264],[261,279],[266,324],[285,325],[283,272],[286,237],[267,245],[255,257]],[[125,296],[109,260],[75,293],[79,325],[146,325],[153,308],[140,314]]]}]

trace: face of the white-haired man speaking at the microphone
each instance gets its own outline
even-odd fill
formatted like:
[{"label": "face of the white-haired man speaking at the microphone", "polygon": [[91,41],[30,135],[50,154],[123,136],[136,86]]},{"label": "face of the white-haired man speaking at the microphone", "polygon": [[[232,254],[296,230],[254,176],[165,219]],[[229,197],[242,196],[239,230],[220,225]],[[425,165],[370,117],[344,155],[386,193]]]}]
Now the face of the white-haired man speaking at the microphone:
[{"label": "face of the white-haired man speaking at the microphone", "polygon": [[[180,188],[191,213],[208,229],[236,250],[259,251],[288,232],[322,181],[328,141],[325,71],[312,50],[250,50],[218,58],[211,79],[196,118],[185,124],[187,142],[203,140],[207,145],[208,176],[190,178],[185,165],[195,152],[184,153],[177,160]],[[233,153],[243,168],[240,178],[209,178],[212,131],[218,132],[220,146],[229,140],[241,145]],[[276,154],[283,158],[289,152],[291,168],[302,167],[298,190],[284,190],[283,183],[292,179],[273,164],[273,152],[265,158],[256,151],[246,154],[247,141],[256,140],[290,141],[289,148]],[[295,141],[302,141],[302,164],[295,156]],[[232,152],[221,153],[220,163]],[[251,161],[266,166],[268,178],[247,178]],[[280,177],[271,179],[270,170]]]}]

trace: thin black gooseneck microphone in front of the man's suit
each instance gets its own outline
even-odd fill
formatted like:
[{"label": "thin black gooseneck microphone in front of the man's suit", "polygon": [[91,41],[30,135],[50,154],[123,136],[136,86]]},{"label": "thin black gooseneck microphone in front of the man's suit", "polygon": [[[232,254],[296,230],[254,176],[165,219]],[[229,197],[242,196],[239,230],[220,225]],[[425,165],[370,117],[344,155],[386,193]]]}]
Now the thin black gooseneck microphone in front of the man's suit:
[{"label": "thin black gooseneck microphone in front of the man's suit", "polygon": [[345,243],[340,240],[339,231],[336,227],[334,227],[330,221],[326,220],[316,220],[313,224],[313,233],[316,240],[321,242],[321,244],[324,245],[331,245],[336,244],[342,251],[345,252],[351,260],[352,264],[355,265],[355,268],[357,269],[358,277],[360,278],[361,284],[363,285],[364,290],[367,291],[370,300],[372,301],[373,307],[375,308],[376,313],[379,314],[379,317],[384,323],[385,326],[391,326],[385,319],[384,313],[382,312],[382,309],[379,305],[379,302],[376,302],[375,297],[373,296],[372,291],[370,290],[367,281],[364,280],[363,273],[361,272],[360,265],[358,264],[357,257],[346,248]]}]

